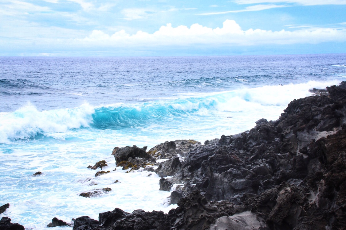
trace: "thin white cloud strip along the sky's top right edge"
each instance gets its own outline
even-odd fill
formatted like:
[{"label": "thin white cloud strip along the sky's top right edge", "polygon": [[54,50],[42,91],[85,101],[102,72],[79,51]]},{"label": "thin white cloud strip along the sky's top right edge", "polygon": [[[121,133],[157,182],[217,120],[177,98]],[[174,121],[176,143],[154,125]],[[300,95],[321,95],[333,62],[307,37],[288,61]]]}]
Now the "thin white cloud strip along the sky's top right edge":
[{"label": "thin white cloud strip along the sky's top right edge", "polygon": [[346,5],[346,0],[234,0],[237,4],[297,3],[303,6]]}]

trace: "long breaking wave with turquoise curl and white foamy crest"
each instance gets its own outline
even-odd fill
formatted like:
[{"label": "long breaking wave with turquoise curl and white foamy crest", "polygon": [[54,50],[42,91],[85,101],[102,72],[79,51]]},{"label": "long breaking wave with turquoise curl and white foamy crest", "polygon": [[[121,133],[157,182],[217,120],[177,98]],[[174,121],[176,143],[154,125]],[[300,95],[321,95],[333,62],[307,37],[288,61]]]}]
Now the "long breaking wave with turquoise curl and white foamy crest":
[{"label": "long breaking wave with turquoise curl and white foamy crest", "polygon": [[[337,83],[337,82],[335,82]],[[328,83],[330,85],[330,82]],[[218,116],[238,113],[246,116],[250,108],[286,106],[292,99],[311,95],[308,89],[324,88],[326,83],[289,84],[243,88],[208,94],[185,94],[146,103],[118,103],[107,106],[83,104],[71,109],[38,111],[28,104],[15,112],[0,113],[0,142],[54,137],[56,133],[78,132],[80,129],[122,130],[158,125],[169,129],[171,124],[191,121],[200,125],[203,119],[217,120]],[[268,107],[268,108],[269,108]],[[269,111],[269,110],[268,110]],[[243,115],[242,115],[243,114]]]}]

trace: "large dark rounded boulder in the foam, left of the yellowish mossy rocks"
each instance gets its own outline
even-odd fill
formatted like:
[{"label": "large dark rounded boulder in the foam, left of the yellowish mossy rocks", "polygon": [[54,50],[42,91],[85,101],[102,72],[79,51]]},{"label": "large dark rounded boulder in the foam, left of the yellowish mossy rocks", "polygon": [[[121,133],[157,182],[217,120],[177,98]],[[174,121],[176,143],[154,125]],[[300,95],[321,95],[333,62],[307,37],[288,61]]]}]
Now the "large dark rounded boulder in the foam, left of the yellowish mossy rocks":
[{"label": "large dark rounded boulder in the foam, left of the yellowish mossy rocks", "polygon": [[126,146],[123,148],[119,148],[115,155],[115,161],[118,165],[121,161],[128,161],[128,159],[131,157],[132,159],[135,159],[136,157],[144,158],[145,160],[155,160],[146,152],[143,148],[138,148],[137,146]]}]

